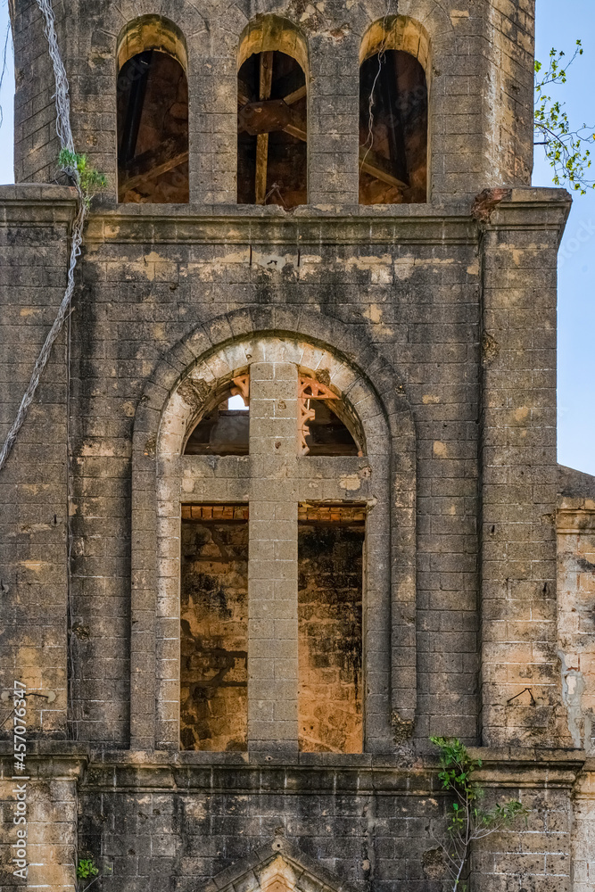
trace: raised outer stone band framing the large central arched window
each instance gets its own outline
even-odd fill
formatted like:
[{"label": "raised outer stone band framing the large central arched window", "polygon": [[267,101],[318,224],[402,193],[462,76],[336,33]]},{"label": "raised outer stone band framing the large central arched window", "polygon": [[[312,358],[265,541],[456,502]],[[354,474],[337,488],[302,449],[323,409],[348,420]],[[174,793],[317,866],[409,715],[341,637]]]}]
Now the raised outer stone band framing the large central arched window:
[{"label": "raised outer stone band framing the large central arched window", "polygon": [[[390,748],[390,723],[399,735],[412,731],[417,702],[416,690],[416,446],[413,417],[401,380],[384,357],[369,342],[351,334],[348,326],[318,312],[299,308],[253,307],[213,319],[186,335],[155,369],[147,382],[136,411],[133,439],[133,554],[132,554],[132,642],[131,642],[131,739],[132,747],[174,747],[178,682],[174,681],[174,652],[157,658],[157,625],[169,624],[171,597],[159,587],[155,556],[158,554],[158,507],[171,498],[169,485],[161,479],[162,463],[175,461],[171,449],[163,452],[161,436],[171,431],[164,425],[166,412],[178,386],[199,363],[212,361],[217,353],[254,335],[299,338],[335,355],[337,362],[353,373],[346,393],[357,405],[376,402],[387,432],[389,478],[386,510],[390,516],[390,545],[385,564],[390,567],[387,609],[391,615],[391,643],[387,665],[378,657],[374,671],[391,674],[390,703],[385,716],[384,748]],[[233,364],[233,360],[232,360]],[[191,409],[189,408],[190,412]],[[169,418],[175,426],[175,417]],[[179,449],[183,442],[183,419],[178,418]],[[161,442],[160,442],[161,441]],[[159,454],[161,453],[161,454]],[[177,571],[175,571],[177,572]],[[173,571],[172,571],[173,578]],[[381,597],[381,592],[378,597]],[[159,689],[159,698],[158,698]],[[169,694],[168,694],[169,691]],[[158,712],[159,699],[159,712]],[[388,739],[387,739],[388,738]],[[378,745],[380,746],[380,744]]]}]

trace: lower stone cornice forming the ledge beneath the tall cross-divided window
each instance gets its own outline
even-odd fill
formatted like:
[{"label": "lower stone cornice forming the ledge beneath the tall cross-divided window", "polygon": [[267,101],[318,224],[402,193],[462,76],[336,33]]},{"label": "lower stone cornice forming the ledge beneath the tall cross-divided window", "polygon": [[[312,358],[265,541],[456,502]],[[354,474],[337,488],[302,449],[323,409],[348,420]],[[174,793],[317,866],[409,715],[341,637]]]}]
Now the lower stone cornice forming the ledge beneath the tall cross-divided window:
[{"label": "lower stone cornice forming the ledge beneath the tall cross-divided window", "polygon": [[[49,751],[44,753],[44,749]],[[302,754],[291,763],[280,759],[274,764],[265,756],[248,758],[240,753],[84,753],[84,749],[59,741],[49,747],[32,746],[27,758],[29,777],[79,780],[84,789],[95,791],[236,795],[259,791],[293,795],[377,792],[398,796],[435,796],[442,792],[437,761],[428,756],[412,757],[411,764],[404,764],[399,756]],[[587,767],[580,750],[478,747],[470,753],[482,759],[476,778],[485,787],[571,789]],[[11,777],[12,758],[4,742],[0,765],[2,777]]]}]

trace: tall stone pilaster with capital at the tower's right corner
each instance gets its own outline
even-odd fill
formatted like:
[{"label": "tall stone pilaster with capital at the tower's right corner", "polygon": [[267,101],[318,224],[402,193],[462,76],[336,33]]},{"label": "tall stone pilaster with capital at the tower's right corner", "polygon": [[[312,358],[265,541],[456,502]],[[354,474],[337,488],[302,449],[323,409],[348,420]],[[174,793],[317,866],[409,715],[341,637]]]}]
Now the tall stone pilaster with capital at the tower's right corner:
[{"label": "tall stone pilaster with capital at the tower's right corner", "polygon": [[567,195],[518,189],[483,235],[483,744],[555,746],[556,264]]}]

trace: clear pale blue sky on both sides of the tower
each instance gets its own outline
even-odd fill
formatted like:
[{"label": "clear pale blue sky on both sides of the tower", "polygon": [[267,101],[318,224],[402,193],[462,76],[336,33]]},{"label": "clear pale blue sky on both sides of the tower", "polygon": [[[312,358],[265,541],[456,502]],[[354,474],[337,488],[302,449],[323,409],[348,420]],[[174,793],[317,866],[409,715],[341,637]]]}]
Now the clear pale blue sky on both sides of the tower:
[{"label": "clear pale blue sky on both sides of the tower", "polygon": [[[547,61],[552,46],[573,52],[577,38],[584,54],[574,62],[561,96],[575,126],[595,124],[595,4],[593,0],[536,0],[536,56]],[[8,23],[6,0],[0,0],[0,49]],[[0,103],[0,183],[12,183],[12,60],[4,73]],[[595,178],[595,146],[593,177]],[[539,146],[535,150],[533,184],[551,185],[551,169]],[[497,184],[494,184],[497,185]],[[558,461],[595,474],[595,190],[577,195],[566,227],[558,264]]]}]

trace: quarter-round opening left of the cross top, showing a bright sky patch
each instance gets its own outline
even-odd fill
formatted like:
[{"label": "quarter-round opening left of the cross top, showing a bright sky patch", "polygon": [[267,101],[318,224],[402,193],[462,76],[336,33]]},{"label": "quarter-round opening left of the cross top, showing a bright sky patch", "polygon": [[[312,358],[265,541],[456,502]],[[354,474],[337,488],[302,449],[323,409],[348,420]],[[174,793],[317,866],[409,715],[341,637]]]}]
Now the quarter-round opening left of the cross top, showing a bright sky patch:
[{"label": "quarter-round opening left of the cross top, showing a bright sky patch", "polygon": [[248,376],[234,378],[207,410],[186,442],[185,455],[248,455],[250,410]]}]

